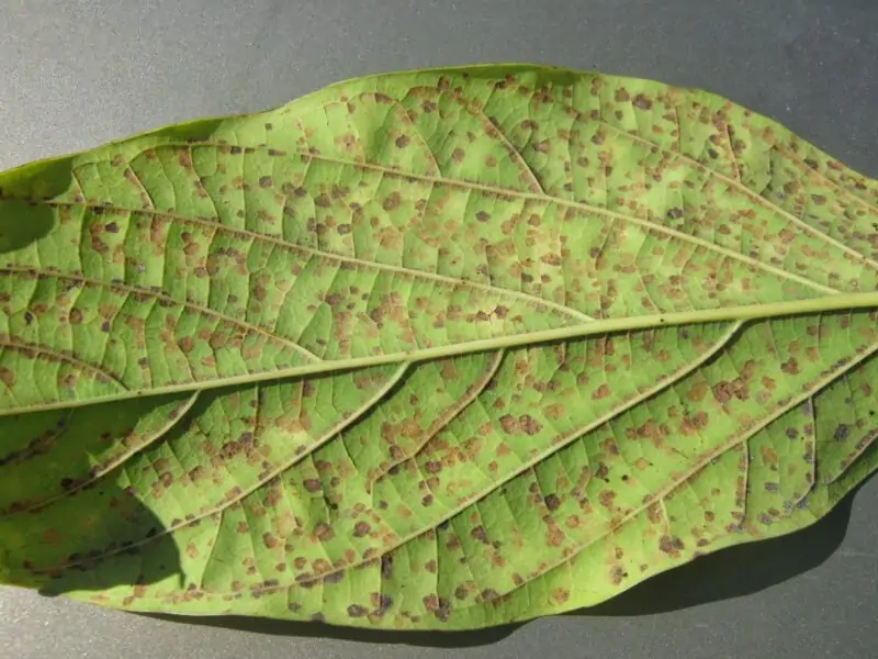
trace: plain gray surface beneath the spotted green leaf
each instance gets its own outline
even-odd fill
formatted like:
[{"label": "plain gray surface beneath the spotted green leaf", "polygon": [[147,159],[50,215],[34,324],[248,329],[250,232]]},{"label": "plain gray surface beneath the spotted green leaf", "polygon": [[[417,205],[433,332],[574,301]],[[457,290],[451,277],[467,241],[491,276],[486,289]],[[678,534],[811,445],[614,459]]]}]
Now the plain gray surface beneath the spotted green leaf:
[{"label": "plain gray surface beneath the spotted green leaf", "polygon": [[[341,78],[522,60],[718,91],[878,176],[878,0],[3,0],[0,168]],[[166,621],[0,589],[0,657],[878,657],[878,479],[588,615],[455,636]],[[849,516],[849,520],[848,520]]]}]

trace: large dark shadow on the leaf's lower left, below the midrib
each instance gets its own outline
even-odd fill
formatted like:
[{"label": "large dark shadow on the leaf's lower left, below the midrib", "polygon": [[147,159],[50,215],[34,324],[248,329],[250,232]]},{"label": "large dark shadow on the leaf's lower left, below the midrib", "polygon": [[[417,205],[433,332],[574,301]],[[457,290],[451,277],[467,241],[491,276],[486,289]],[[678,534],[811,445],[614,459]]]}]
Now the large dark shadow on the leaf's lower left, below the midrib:
[{"label": "large dark shadow on the leaf's lower left, below the midrib", "polygon": [[119,605],[179,581],[180,552],[161,521],[119,470],[97,473],[90,460],[150,412],[111,403],[0,417],[4,582],[47,596],[93,592]]}]

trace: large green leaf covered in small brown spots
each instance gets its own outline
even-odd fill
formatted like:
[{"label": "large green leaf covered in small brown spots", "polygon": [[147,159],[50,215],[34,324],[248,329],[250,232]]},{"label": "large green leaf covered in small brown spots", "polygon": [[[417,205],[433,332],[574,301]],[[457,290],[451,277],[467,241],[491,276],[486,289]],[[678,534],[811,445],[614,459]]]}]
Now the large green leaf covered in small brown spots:
[{"label": "large green leaf covered in small brown spots", "polygon": [[482,627],[878,465],[878,183],[703,91],[373,76],[0,189],[5,583]]}]

